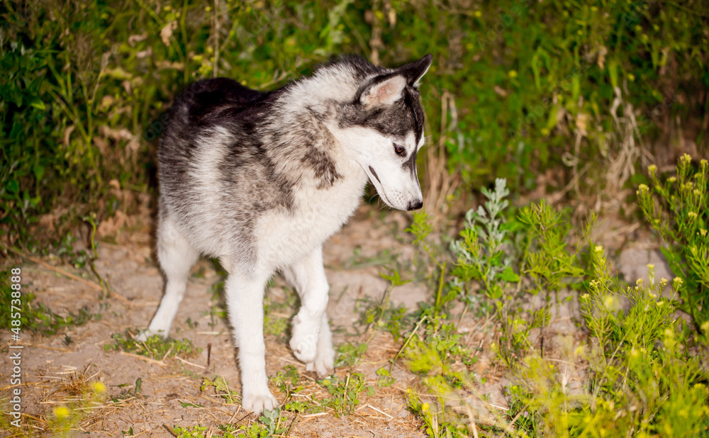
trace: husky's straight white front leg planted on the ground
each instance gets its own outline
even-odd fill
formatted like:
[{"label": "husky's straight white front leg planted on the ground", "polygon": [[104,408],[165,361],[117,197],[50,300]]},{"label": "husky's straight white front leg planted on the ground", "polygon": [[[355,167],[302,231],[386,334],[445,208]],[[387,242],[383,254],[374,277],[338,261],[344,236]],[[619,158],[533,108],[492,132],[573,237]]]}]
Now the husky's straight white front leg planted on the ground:
[{"label": "husky's straight white front leg planted on the ground", "polygon": [[239,348],[242,406],[253,412],[273,410],[276,399],[268,388],[264,344],[264,288],[270,275],[240,275],[235,270],[226,281],[229,322]]}]

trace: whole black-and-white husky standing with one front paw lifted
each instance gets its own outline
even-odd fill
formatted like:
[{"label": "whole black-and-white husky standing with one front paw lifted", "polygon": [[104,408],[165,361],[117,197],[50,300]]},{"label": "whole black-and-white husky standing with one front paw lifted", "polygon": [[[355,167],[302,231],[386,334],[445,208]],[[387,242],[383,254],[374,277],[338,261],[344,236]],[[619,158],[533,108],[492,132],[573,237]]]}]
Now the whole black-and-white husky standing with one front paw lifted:
[{"label": "whole black-and-white husky standing with one front paw lifted", "polygon": [[157,257],[167,279],[150,326],[167,336],[200,254],[228,272],[242,405],[277,406],[267,386],[264,287],[281,271],[301,297],[291,349],[309,371],[333,368],[323,242],[354,213],[367,181],[416,210],[424,113],[418,86],[432,57],[396,69],[346,56],[275,91],[208,79],[175,99],[159,152]]}]

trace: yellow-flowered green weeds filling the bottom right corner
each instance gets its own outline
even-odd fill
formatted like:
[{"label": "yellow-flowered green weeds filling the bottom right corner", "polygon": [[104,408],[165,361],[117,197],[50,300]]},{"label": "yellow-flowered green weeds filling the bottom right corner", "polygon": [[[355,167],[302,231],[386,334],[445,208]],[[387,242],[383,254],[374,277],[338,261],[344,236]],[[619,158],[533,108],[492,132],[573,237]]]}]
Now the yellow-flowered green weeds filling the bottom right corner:
[{"label": "yellow-flowered green weeds filling the bottom right corner", "polygon": [[[591,259],[593,279],[581,296],[591,342],[571,354],[571,359],[585,359],[588,382],[581,391],[570,391],[569,367],[531,352],[518,369],[510,418],[522,409],[529,412],[525,429],[532,435],[691,437],[709,432],[708,344],[697,344],[675,319],[674,301],[662,297],[667,281],[624,288],[610,276],[602,247],[594,248]],[[673,286],[679,293],[681,282]],[[627,312],[618,310],[624,301],[630,303]]]}]

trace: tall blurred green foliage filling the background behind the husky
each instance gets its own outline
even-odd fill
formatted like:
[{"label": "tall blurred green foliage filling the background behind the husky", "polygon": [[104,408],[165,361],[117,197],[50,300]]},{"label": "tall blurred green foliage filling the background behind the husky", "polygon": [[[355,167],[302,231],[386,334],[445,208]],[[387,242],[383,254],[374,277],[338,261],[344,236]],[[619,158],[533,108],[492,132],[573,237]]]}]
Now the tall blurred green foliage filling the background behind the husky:
[{"label": "tall blurred green foliage filling the background behind the husky", "polygon": [[111,180],[154,189],[161,116],[190,82],[269,89],[340,52],[387,66],[434,55],[427,133],[447,139],[466,188],[504,177],[530,189],[564,152],[602,163],[616,97],[636,135],[679,116],[698,120],[684,126],[705,147],[708,16],[697,0],[5,1],[2,229],[25,241],[52,208],[60,223],[128,208]]}]

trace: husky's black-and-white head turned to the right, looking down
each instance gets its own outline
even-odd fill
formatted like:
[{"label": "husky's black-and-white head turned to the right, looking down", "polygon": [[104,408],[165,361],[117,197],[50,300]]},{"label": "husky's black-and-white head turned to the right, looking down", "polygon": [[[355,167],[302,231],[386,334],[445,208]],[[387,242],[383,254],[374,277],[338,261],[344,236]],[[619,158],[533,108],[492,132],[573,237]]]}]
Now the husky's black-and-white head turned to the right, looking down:
[{"label": "husky's black-and-white head turned to the right, looking down", "polygon": [[423,206],[416,155],[423,146],[418,86],[432,56],[369,75],[340,112],[337,139],[391,208]]}]

